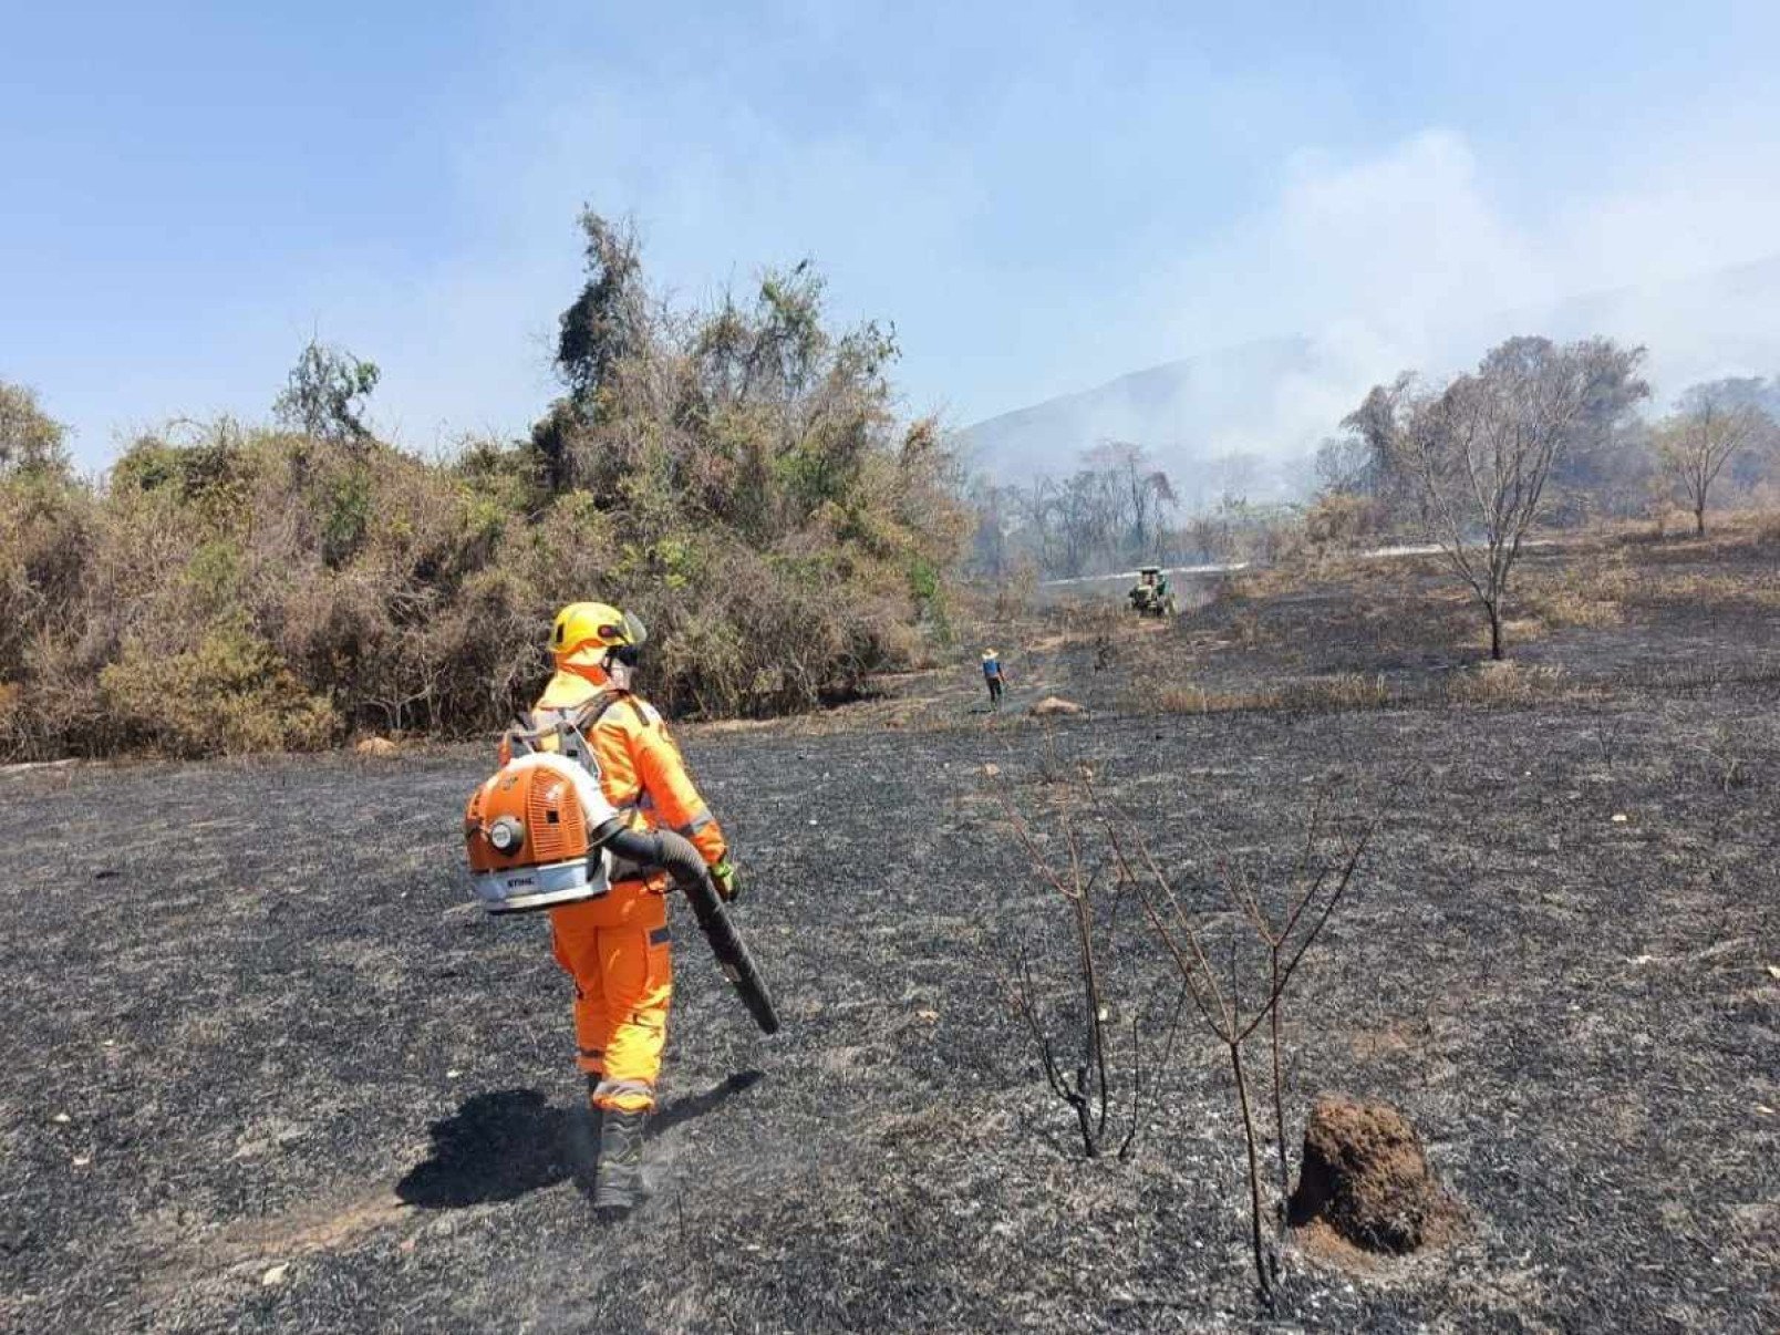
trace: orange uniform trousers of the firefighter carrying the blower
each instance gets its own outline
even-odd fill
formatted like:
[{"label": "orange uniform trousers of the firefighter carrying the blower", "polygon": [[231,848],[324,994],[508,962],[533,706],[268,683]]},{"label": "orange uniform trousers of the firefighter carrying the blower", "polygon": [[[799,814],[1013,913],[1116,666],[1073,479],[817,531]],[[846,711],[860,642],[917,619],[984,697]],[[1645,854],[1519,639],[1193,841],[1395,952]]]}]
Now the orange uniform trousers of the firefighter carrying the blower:
[{"label": "orange uniform trousers of the firefighter carrying the blower", "polygon": [[557,963],[575,981],[577,1063],[596,1077],[593,1102],[655,1107],[673,1000],[668,901],[655,885],[619,883],[602,899],[550,913]]}]

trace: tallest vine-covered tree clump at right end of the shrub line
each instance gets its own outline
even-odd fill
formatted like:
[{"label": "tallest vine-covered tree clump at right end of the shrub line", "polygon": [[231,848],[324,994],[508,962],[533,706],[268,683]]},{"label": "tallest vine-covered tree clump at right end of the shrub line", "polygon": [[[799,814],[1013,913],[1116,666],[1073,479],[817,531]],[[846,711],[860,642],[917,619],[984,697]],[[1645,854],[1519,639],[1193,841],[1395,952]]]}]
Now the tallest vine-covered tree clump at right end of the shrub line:
[{"label": "tallest vine-covered tree clump at right end of the shrub line", "polygon": [[[580,219],[586,276],[562,312],[566,393],[532,427],[546,493],[578,518],[536,586],[570,568],[662,628],[664,703],[796,708],[846,694],[940,634],[963,543],[951,454],[904,429],[886,377],[894,333],[826,320],[808,262],[762,274],[751,301],[676,310],[644,279],[628,228]],[[673,648],[668,648],[668,646]],[[692,648],[696,646],[696,651]]]}]

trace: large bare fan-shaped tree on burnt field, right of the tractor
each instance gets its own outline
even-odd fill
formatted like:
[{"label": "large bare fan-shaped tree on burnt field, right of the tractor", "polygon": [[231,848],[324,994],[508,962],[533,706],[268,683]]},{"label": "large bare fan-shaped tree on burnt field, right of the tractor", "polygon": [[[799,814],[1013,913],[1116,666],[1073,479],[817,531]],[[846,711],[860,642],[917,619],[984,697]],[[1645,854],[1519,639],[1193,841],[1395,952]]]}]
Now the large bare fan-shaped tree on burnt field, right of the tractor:
[{"label": "large bare fan-shaped tree on burnt field, right of the tractor", "polygon": [[1483,607],[1492,659],[1502,657],[1509,580],[1552,465],[1602,384],[1627,381],[1641,358],[1602,338],[1509,338],[1476,372],[1399,411],[1396,449],[1417,481],[1422,523]]}]

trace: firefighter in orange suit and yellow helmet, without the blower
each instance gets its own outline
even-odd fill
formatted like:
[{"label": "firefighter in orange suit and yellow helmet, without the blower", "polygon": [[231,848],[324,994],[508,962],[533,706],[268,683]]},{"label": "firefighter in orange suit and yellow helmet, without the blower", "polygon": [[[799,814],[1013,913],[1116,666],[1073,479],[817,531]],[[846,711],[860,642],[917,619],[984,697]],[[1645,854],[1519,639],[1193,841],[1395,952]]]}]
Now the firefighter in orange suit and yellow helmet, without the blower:
[{"label": "firefighter in orange suit and yellow helmet, without the blower", "polygon": [[[717,892],[733,899],[723,831],[662,716],[630,692],[644,634],[637,618],[616,607],[564,607],[550,630],[555,675],[532,717],[580,714],[607,799],[632,812],[637,829],[673,829],[692,840]],[[655,1107],[673,997],[668,885],[664,872],[619,863],[609,894],[550,911],[557,963],[575,981],[578,1063],[600,1123],[593,1203],[607,1218],[623,1216],[643,1194],[643,1127]]]}]

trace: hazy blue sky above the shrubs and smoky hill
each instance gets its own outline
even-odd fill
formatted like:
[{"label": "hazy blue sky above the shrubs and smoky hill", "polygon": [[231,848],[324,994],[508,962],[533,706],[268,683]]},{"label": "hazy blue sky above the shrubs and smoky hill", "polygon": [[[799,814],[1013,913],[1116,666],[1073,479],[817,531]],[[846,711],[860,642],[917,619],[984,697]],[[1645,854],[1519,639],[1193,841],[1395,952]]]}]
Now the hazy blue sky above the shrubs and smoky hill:
[{"label": "hazy blue sky above the shrubs and smoky hill", "polygon": [[1771,4],[66,4],[5,36],[0,377],[87,465],[262,417],[312,333],[384,368],[408,445],[522,431],[582,203],[689,301],[813,256],[952,424],[1280,333],[1385,376],[1456,319],[1780,251]]}]

